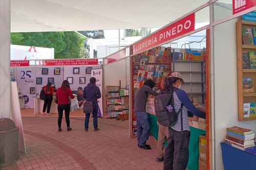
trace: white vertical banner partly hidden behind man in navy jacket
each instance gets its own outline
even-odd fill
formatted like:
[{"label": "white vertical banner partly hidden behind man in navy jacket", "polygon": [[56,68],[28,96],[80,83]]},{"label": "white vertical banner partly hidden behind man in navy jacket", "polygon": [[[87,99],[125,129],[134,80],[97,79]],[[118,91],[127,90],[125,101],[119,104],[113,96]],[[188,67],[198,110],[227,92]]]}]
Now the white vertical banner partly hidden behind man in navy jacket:
[{"label": "white vertical banner partly hidden behind man in navy jacket", "polygon": [[98,99],[98,105],[99,105],[98,116],[102,117],[102,115],[103,115],[102,96],[104,95],[104,94],[102,94],[102,68],[92,69],[91,77],[96,78],[96,86],[98,86],[100,89],[101,98]]}]

